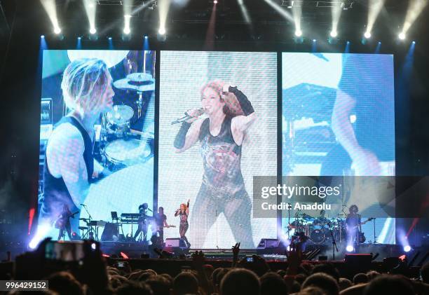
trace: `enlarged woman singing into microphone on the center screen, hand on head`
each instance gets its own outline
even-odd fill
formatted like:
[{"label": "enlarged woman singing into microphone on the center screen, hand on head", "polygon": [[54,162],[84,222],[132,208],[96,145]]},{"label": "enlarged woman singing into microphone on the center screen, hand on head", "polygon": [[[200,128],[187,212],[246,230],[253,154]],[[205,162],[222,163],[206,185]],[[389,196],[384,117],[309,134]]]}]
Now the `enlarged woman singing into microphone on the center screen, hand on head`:
[{"label": "enlarged woman singing into microphone on the center screen, hand on head", "polygon": [[236,242],[252,249],[252,206],[240,160],[245,132],[256,120],[256,114],[237,87],[211,81],[201,89],[201,104],[208,118],[197,121],[200,109],[187,111],[191,118],[182,123],[174,144],[177,153],[182,153],[200,141],[204,173],[190,221],[194,246],[203,247],[208,231],[223,212]]}]

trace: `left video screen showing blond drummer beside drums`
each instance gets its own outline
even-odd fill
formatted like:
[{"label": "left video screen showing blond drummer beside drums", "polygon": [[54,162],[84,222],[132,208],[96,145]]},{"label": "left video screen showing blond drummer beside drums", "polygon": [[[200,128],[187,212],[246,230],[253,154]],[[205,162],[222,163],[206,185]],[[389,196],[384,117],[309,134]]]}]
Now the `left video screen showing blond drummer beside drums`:
[{"label": "left video screen showing blond drummer beside drums", "polygon": [[36,240],[135,234],[115,217],[153,207],[154,74],[154,51],[43,51]]}]

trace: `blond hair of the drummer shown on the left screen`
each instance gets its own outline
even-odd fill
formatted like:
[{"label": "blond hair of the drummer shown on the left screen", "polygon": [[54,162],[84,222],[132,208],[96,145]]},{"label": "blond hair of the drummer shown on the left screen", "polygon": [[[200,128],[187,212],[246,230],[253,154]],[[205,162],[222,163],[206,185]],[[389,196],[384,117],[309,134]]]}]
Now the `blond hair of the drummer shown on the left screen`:
[{"label": "blond hair of the drummer shown on the left screen", "polygon": [[62,95],[67,107],[82,113],[93,111],[109,81],[107,65],[96,58],[74,60],[64,70]]}]

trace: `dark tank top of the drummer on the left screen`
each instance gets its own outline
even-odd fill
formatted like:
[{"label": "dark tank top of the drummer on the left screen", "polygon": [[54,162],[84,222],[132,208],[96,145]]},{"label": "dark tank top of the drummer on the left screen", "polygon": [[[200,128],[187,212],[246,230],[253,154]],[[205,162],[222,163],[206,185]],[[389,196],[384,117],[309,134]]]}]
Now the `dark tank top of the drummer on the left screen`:
[{"label": "dark tank top of the drummer on the left screen", "polygon": [[[85,160],[86,171],[88,173],[88,182],[91,182],[94,171],[94,156],[93,156],[93,143],[91,142],[88,132],[82,127],[82,125],[71,116],[64,116],[55,125],[57,128],[59,125],[69,123],[81,132],[83,137],[83,143],[85,144],[85,151],[83,152],[83,160]],[[71,195],[67,190],[67,186],[64,183],[62,177],[55,178],[50,174],[48,170],[48,160],[45,152],[45,165],[43,167],[43,179],[44,179],[44,190],[43,199],[41,202],[41,214],[52,215],[57,214],[61,210],[64,204],[69,205],[69,208],[76,208],[71,199]],[[73,211],[73,210],[72,210]]]}]

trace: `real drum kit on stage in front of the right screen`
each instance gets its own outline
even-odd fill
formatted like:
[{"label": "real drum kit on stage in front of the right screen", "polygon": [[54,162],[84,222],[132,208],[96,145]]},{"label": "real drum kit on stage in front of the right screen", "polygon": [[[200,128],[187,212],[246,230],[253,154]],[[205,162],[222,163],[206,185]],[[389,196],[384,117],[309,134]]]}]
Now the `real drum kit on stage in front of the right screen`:
[{"label": "real drum kit on stage in front of the right screen", "polygon": [[[330,229],[330,231],[329,231]],[[331,234],[332,231],[332,234]],[[346,222],[343,218],[311,217],[308,214],[295,214],[295,219],[287,226],[287,233],[304,233],[314,245],[332,244],[346,240]]]}]

